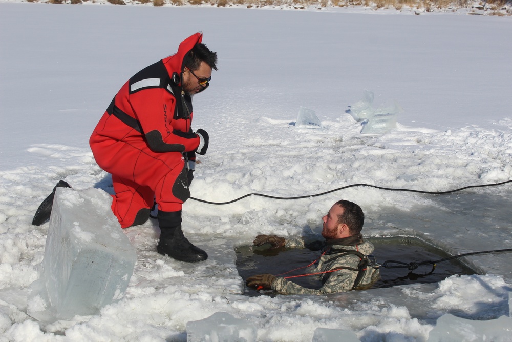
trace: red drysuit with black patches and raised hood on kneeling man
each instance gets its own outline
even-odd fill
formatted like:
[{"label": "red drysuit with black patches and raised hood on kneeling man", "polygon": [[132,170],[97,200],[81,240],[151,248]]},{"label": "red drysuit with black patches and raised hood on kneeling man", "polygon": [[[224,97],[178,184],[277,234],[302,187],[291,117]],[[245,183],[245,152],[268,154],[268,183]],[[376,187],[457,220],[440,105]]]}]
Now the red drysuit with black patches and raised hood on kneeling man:
[{"label": "red drysuit with black patches and raised hood on kneeling man", "polygon": [[202,34],[185,39],[178,52],[127,81],[89,140],[98,165],[112,174],[112,211],[122,228],[139,210],[180,211],[190,196],[186,159],[194,161],[201,138],[192,132],[192,98],[182,91],[185,55]]}]

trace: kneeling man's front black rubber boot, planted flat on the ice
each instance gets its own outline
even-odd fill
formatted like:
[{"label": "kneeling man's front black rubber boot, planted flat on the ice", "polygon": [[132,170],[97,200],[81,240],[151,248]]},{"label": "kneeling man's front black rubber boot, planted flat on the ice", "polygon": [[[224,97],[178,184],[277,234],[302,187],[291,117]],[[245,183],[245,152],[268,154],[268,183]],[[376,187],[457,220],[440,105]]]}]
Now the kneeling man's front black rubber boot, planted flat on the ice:
[{"label": "kneeling man's front black rubber boot, planted flat on the ice", "polygon": [[185,263],[197,263],[208,258],[202,249],[191,244],[181,230],[181,210],[176,212],[158,211],[160,239],[157,251]]}]

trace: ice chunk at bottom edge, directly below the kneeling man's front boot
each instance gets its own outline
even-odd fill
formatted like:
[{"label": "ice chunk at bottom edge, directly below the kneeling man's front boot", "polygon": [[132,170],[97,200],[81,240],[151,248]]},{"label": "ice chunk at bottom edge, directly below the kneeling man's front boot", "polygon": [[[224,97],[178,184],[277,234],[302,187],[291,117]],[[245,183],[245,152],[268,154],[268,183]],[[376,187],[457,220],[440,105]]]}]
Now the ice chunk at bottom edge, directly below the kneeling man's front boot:
[{"label": "ice chunk at bottom edge, directly below the kneeling man's front boot", "polygon": [[216,312],[210,317],[187,323],[187,342],[256,341],[257,329],[248,321],[235,318],[227,312]]}]

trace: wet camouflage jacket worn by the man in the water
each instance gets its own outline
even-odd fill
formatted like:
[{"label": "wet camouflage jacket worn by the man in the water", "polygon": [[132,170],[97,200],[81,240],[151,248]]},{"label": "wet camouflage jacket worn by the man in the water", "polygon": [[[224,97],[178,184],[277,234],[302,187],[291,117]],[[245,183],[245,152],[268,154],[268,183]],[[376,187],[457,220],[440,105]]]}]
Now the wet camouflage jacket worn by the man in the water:
[{"label": "wet camouflage jacket worn by the man in the water", "polygon": [[[342,241],[336,240],[336,244],[330,246],[327,245],[327,247],[324,248],[324,250],[327,250],[325,254],[319,258],[314,268],[308,270],[309,273],[327,272],[312,275],[318,277],[318,280],[321,281],[322,287],[320,289],[314,290],[304,288],[283,277],[278,277],[272,283],[272,290],[280,294],[318,295],[350,291],[354,286],[358,271],[348,270],[346,268],[357,269],[360,258],[355,254],[344,255],[345,252],[339,250],[354,250],[359,251],[364,255],[371,254],[374,250],[373,244],[369,241],[363,242],[362,236],[360,236],[360,241],[361,243],[353,246],[347,246],[343,245],[343,239]],[[288,240],[286,245],[287,247],[301,247],[297,246],[297,242],[289,242]],[[304,247],[304,243],[302,243],[302,247]],[[338,268],[339,270],[331,271]],[[369,287],[376,279],[378,279],[378,277],[378,268],[368,266],[364,276],[359,282],[358,288]]]}]

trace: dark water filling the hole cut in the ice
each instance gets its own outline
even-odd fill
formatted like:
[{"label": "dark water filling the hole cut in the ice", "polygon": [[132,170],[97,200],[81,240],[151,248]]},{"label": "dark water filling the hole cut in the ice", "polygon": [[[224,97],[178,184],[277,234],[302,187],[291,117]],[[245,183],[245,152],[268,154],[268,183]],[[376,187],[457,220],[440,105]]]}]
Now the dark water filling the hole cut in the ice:
[{"label": "dark water filling the hole cut in the ice", "polygon": [[[450,257],[444,251],[424,244],[421,240],[410,237],[370,238],[375,245],[374,255],[378,264],[385,261],[400,261],[409,263],[421,263],[422,261],[437,261]],[[285,249],[280,251],[269,250],[268,247],[242,246],[237,248],[237,268],[240,276],[245,280],[248,276],[261,273],[271,273],[283,276],[302,275],[307,273],[304,267],[313,263],[319,256],[318,251],[308,249]],[[398,264],[388,263],[388,266]],[[461,264],[458,259],[442,261],[433,265],[419,266],[410,271],[408,268],[380,268],[381,279],[373,288],[385,288],[397,285],[417,283],[437,283],[454,274],[475,274],[475,272]],[[303,287],[318,289],[322,285],[314,276],[295,277],[294,283]],[[245,294],[249,296],[259,295],[254,289],[246,288]]]}]

